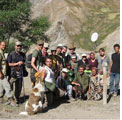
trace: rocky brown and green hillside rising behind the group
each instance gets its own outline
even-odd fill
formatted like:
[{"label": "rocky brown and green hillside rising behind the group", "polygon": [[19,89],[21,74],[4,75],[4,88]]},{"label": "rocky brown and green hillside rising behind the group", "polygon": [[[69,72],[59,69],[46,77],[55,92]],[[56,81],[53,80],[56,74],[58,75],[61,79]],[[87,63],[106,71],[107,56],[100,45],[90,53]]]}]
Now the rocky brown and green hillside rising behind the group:
[{"label": "rocky brown and green hillside rising behind the group", "polygon": [[[77,47],[93,50],[90,36],[99,33],[97,45],[112,34],[120,25],[119,0],[30,0],[32,19],[45,15],[51,27],[45,33],[50,37],[51,47],[74,42]],[[113,36],[114,39],[115,36]],[[119,34],[116,39],[119,39]],[[105,43],[104,43],[105,44]]]}]

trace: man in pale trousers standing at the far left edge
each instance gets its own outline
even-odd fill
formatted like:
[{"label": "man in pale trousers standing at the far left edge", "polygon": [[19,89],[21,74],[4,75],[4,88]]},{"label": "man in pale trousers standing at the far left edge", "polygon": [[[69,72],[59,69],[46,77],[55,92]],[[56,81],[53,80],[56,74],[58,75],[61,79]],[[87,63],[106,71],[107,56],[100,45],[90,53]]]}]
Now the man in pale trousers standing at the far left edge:
[{"label": "man in pale trousers standing at the far left edge", "polygon": [[12,97],[12,90],[6,76],[7,64],[4,55],[5,48],[6,42],[0,42],[0,104],[3,102],[3,91],[5,90],[8,98],[7,104],[15,105],[16,103]]}]

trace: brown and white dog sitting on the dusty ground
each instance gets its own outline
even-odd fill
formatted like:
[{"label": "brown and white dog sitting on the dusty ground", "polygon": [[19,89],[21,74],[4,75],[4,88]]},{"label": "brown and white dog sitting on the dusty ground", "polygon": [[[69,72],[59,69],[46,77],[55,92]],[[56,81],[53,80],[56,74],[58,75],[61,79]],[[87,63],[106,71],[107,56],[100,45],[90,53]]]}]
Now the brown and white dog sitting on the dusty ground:
[{"label": "brown and white dog sitting on the dusty ground", "polygon": [[36,84],[32,89],[29,99],[25,104],[25,112],[21,112],[20,115],[34,115],[41,113],[43,109],[43,98],[45,92],[45,85],[42,79],[42,73],[37,72],[35,74]]}]

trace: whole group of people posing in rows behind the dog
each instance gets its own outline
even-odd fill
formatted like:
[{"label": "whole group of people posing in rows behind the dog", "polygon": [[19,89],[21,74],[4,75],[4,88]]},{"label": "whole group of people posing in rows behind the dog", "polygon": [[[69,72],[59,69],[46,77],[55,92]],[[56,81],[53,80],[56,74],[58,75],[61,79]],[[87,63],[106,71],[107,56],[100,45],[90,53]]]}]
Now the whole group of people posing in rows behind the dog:
[{"label": "whole group of people posing in rows behind the dog", "polygon": [[[48,43],[37,41],[35,50],[26,56],[22,52],[22,43],[15,43],[15,50],[5,58],[6,42],[0,43],[0,103],[4,91],[7,104],[19,104],[23,78],[28,75],[26,67],[30,64],[32,88],[36,84],[35,73],[43,72],[45,94],[48,105],[55,97],[68,100],[101,100],[103,97],[103,63],[106,63],[106,75],[110,76],[109,95],[118,95],[120,81],[120,45],[115,44],[115,53],[110,58],[104,48],[81,56],[75,51],[74,44],[49,49]],[[30,57],[30,59],[29,59]],[[115,85],[114,85],[115,82]],[[14,93],[13,88],[15,87]]]}]

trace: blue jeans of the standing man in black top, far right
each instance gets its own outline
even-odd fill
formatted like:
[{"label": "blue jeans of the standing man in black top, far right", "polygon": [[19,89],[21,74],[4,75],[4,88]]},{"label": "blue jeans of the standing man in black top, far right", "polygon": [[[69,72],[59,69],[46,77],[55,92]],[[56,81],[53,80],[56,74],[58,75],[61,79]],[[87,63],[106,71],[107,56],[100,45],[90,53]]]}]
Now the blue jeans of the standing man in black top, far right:
[{"label": "blue jeans of the standing man in black top, far right", "polygon": [[[115,87],[114,87],[114,80],[115,80]],[[112,73],[110,74],[110,92],[118,92],[120,82],[120,74],[119,73]]]}]

